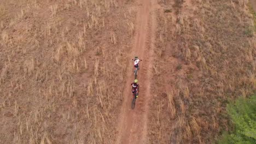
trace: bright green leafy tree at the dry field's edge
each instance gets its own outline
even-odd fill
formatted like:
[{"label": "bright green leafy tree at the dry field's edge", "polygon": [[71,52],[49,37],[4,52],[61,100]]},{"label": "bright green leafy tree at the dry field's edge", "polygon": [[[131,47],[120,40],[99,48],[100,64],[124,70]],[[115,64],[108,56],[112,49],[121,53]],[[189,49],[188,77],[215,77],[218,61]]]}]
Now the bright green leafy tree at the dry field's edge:
[{"label": "bright green leafy tree at the dry field's edge", "polygon": [[239,98],[227,106],[227,112],[234,130],[225,132],[218,143],[256,143],[256,95]]}]

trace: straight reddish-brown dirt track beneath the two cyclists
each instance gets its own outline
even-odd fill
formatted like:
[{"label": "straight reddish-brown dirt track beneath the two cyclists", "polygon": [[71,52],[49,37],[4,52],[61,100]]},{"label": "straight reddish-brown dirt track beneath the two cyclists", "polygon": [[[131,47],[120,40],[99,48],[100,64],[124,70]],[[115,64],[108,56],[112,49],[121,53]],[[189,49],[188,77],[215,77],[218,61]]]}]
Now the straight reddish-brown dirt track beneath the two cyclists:
[{"label": "straight reddish-brown dirt track beneath the two cyclists", "polygon": [[143,59],[138,71],[140,85],[139,98],[135,109],[131,109],[131,82],[134,80],[133,63],[129,59],[126,71],[127,81],[123,93],[123,105],[118,123],[116,143],[149,143],[147,139],[148,102],[150,100],[150,80],[152,77],[153,47],[155,35],[154,5],[156,0],[138,0],[139,9],[136,16],[135,39],[130,58],[137,55]]}]

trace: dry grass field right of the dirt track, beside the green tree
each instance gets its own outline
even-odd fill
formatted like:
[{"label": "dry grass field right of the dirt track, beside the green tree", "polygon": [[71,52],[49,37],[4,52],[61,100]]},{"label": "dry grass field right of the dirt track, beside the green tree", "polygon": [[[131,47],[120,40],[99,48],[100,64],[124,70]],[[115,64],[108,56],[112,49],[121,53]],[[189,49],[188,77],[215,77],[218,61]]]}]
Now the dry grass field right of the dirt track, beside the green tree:
[{"label": "dry grass field right of the dirt track, beside the green tree", "polygon": [[[256,89],[248,1],[158,1],[149,139],[214,143],[228,130],[228,100]],[[255,18],[255,17],[254,17]]]}]

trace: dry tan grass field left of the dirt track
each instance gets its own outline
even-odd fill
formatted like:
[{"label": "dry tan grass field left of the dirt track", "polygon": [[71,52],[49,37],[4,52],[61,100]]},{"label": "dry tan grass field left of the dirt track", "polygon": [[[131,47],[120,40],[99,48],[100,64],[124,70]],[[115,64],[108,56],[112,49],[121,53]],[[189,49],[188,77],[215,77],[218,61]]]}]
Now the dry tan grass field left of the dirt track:
[{"label": "dry tan grass field left of the dirt track", "polygon": [[132,4],[0,0],[0,143],[115,140]]}]

